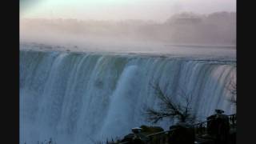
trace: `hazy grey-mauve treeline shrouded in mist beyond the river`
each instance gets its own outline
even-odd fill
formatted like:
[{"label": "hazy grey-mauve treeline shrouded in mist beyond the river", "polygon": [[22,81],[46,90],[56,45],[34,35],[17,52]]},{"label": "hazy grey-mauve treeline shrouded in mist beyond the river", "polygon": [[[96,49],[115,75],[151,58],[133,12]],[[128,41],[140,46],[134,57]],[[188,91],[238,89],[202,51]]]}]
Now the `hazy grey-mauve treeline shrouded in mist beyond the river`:
[{"label": "hazy grey-mauve treeline shrouded in mist beyond the river", "polygon": [[[22,37],[58,34],[79,38],[112,38],[171,44],[236,45],[236,13],[179,13],[165,22],[126,20],[119,22],[78,19],[22,19]],[[56,35],[55,35],[56,36]],[[40,37],[39,37],[40,38]]]}]

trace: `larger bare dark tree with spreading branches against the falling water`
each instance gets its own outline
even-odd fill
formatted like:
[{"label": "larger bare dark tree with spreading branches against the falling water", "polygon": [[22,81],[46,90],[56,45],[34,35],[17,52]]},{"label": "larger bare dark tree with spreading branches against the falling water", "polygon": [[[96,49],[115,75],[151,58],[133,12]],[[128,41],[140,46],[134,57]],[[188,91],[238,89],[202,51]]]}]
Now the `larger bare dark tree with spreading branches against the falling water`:
[{"label": "larger bare dark tree with spreading branches against the falling water", "polygon": [[[150,122],[157,123],[163,118],[178,118],[179,122],[194,122],[195,116],[191,111],[192,95],[186,94],[181,89],[182,94],[178,94],[180,98],[185,99],[185,104],[174,102],[170,95],[165,94],[160,88],[159,84],[152,85],[156,92],[157,98],[160,100],[158,103],[159,110],[154,108],[146,108],[146,117]],[[184,102],[183,102],[184,103]]]}]

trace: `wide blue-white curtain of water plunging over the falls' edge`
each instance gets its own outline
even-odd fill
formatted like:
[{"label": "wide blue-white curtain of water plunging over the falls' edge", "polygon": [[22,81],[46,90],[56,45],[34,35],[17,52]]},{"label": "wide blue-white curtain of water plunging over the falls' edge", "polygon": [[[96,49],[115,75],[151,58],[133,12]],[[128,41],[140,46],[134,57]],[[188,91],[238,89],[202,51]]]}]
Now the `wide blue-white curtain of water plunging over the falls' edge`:
[{"label": "wide blue-white curtain of water plunging over the falls' edge", "polygon": [[[20,142],[94,143],[149,124],[145,106],[157,107],[152,82],[177,101],[192,94],[199,119],[222,109],[233,114],[226,89],[235,61],[20,51]],[[171,122],[163,121],[168,128]]]}]

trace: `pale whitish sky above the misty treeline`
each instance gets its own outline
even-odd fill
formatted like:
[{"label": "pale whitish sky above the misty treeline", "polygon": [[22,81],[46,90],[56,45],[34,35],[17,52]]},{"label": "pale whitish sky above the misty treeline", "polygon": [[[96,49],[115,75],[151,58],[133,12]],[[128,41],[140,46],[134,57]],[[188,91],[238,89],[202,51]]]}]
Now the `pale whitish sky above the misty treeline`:
[{"label": "pale whitish sky above the misty treeline", "polygon": [[236,11],[236,0],[21,0],[21,18],[142,19],[163,22],[172,14]]}]

